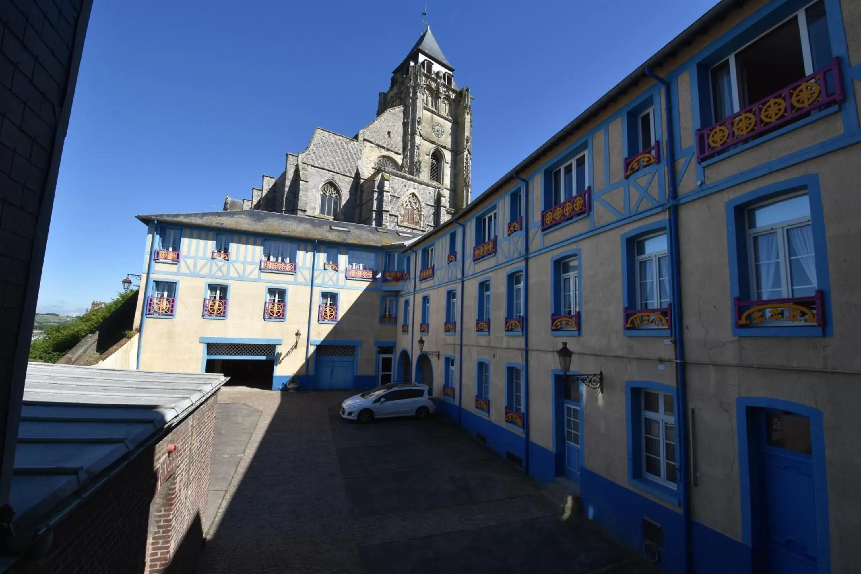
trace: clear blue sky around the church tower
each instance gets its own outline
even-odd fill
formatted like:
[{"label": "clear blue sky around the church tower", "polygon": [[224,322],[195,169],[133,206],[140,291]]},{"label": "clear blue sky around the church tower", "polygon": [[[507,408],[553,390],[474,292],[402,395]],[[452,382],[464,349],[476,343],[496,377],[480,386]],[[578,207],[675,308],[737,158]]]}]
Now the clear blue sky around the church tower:
[{"label": "clear blue sky around the church tower", "polygon": [[[429,0],[473,102],[478,194],[715,0]],[[238,9],[241,6],[241,9]],[[424,0],[96,2],[59,171],[40,312],[140,273],[134,215],[250,197],[315,126],[352,136],[421,34]]]}]

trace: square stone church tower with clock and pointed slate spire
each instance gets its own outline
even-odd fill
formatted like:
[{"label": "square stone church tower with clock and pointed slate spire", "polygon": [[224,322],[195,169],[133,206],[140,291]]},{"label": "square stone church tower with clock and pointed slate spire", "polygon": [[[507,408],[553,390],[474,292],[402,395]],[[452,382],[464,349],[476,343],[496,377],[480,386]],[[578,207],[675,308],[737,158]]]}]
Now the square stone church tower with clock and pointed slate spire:
[{"label": "square stone church tower with clock and pointed slate spire", "polygon": [[466,207],[472,188],[472,103],[454,74],[429,26],[392,72],[377,106],[378,116],[403,107],[400,170],[437,188],[437,223]]}]

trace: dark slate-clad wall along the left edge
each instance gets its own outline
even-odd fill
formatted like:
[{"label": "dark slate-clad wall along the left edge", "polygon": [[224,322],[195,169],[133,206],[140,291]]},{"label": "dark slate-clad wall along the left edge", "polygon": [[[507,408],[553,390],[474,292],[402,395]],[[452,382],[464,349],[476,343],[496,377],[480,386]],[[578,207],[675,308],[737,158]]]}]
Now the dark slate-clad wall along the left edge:
[{"label": "dark slate-clad wall along the left edge", "polygon": [[0,504],[92,0],[0,0]]}]

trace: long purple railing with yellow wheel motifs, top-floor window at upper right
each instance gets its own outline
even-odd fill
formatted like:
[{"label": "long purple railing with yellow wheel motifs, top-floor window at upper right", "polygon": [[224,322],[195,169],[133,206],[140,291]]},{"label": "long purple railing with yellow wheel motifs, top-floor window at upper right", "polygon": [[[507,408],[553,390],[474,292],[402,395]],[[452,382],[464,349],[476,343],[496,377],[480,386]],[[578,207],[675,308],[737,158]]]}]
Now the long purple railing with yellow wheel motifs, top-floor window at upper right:
[{"label": "long purple railing with yellow wheel motifs, top-floor window at upper right", "polygon": [[839,59],[784,89],[697,130],[697,162],[714,157],[733,145],[758,138],[811,112],[843,102]]}]

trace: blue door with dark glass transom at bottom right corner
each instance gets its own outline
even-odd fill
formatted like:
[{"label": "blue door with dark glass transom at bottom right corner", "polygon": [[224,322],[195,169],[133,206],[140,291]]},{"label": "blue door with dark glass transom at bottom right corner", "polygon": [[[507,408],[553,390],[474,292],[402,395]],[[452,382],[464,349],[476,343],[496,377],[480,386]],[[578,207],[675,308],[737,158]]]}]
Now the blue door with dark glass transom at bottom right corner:
[{"label": "blue door with dark glass transom at bottom right corner", "polygon": [[770,574],[815,574],[816,504],[810,419],[761,410],[759,500],[763,558]]}]

